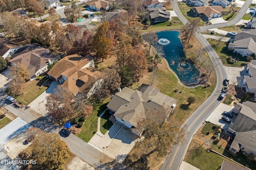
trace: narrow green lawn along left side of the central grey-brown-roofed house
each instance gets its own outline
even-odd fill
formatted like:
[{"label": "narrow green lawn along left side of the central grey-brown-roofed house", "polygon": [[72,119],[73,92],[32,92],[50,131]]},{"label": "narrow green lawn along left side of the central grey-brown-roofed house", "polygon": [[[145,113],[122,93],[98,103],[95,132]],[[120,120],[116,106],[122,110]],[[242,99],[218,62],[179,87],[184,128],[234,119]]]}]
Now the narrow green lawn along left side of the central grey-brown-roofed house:
[{"label": "narrow green lawn along left side of the central grey-brown-roofed house", "polygon": [[82,131],[77,136],[89,142],[90,139],[93,137],[95,132],[97,131],[97,123],[98,123],[98,116],[104,111],[107,107],[108,102],[110,101],[109,98],[104,100],[102,103],[95,103],[93,105],[93,113],[90,115],[86,120],[84,125],[81,127]]}]

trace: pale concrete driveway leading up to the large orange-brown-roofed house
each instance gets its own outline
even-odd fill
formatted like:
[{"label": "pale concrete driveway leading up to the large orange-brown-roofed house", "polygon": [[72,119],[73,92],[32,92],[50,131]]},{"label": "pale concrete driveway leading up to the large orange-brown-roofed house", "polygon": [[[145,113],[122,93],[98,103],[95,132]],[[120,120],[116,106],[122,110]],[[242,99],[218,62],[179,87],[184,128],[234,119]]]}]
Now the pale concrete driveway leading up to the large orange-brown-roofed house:
[{"label": "pale concrete driveway leading up to the large orange-brown-roofed house", "polygon": [[46,97],[49,94],[53,94],[54,88],[56,88],[58,83],[56,81],[53,81],[48,89],[46,89],[45,92],[40,94],[35,100],[33,100],[28,106],[30,106],[31,109],[38,112],[40,115],[44,116],[48,111],[45,109],[46,104]]}]

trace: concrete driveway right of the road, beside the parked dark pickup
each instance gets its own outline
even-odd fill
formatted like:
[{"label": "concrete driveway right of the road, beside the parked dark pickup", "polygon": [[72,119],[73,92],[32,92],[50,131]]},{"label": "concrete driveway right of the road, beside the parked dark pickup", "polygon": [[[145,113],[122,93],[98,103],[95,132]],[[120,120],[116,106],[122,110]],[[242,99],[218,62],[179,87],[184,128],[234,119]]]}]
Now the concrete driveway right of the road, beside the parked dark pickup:
[{"label": "concrete driveway right of the road, beside the parked dark pickup", "polygon": [[230,80],[230,84],[243,84],[244,75],[248,75],[244,67],[228,67],[224,66],[227,76]]}]

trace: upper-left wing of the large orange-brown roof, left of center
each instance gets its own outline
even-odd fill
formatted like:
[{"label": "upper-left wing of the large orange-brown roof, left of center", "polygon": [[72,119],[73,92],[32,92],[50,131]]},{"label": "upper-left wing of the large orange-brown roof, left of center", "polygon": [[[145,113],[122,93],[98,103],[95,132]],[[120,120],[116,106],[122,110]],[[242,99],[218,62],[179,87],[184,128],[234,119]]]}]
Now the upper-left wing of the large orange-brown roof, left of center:
[{"label": "upper-left wing of the large orange-brown roof, left of center", "polygon": [[48,75],[61,80],[62,75],[65,77],[69,77],[78,70],[80,70],[83,66],[88,64],[92,57],[82,57],[78,54],[68,55],[58,61],[48,72]]}]

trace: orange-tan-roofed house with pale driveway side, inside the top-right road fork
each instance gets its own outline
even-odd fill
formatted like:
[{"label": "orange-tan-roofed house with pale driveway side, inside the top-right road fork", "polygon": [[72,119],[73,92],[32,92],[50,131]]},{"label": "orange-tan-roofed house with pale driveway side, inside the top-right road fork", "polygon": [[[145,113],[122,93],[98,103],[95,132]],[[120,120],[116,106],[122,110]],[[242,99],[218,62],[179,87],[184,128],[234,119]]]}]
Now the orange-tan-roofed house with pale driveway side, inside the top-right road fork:
[{"label": "orange-tan-roofed house with pale driveway side, inside the top-right road fork", "polygon": [[200,6],[191,8],[190,12],[194,16],[198,16],[205,21],[209,21],[212,18],[221,17],[223,8],[221,6]]}]

